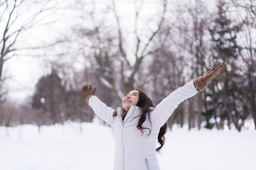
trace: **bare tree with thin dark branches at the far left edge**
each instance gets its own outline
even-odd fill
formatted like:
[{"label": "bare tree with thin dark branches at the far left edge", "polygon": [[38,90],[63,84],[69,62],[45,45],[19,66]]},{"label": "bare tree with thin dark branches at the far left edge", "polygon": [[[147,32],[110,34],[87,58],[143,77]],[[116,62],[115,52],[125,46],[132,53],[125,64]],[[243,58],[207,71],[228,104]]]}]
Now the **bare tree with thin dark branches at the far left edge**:
[{"label": "bare tree with thin dark branches at the far left edge", "polygon": [[24,47],[20,37],[29,29],[46,24],[47,17],[57,9],[56,2],[50,0],[0,1],[0,84],[3,81],[3,66],[8,59],[18,55],[18,50],[38,48]]}]

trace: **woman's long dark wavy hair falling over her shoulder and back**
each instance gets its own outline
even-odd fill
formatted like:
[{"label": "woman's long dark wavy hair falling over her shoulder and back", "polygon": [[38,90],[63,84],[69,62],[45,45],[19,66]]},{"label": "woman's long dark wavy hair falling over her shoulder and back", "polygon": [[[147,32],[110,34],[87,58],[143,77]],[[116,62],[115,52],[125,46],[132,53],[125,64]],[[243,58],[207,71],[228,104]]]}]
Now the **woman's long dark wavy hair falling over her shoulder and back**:
[{"label": "woman's long dark wavy hair falling over her shoulder and back", "polygon": [[[151,99],[143,91],[141,91],[139,89],[136,89],[136,90],[139,91],[139,100],[138,100],[138,103],[137,103],[136,106],[138,106],[141,109],[141,112],[142,112],[142,115],[140,116],[139,121],[138,121],[137,128],[142,132],[142,134],[144,133],[143,129],[149,129],[149,134],[150,134],[151,129],[148,128],[148,127],[143,127],[142,124],[145,122],[147,114],[150,118],[149,113],[154,110],[153,108],[155,108],[155,106],[153,105]],[[117,111],[116,110],[114,111],[113,116],[117,116]],[[149,121],[150,121],[150,119],[149,119]],[[150,121],[150,124],[151,124],[151,121]],[[161,148],[164,145],[164,142],[165,142],[164,135],[165,135],[166,132],[167,132],[167,123],[165,122],[165,124],[159,130],[157,140],[158,140],[160,146],[158,148],[156,148],[157,152],[160,152]]]}]

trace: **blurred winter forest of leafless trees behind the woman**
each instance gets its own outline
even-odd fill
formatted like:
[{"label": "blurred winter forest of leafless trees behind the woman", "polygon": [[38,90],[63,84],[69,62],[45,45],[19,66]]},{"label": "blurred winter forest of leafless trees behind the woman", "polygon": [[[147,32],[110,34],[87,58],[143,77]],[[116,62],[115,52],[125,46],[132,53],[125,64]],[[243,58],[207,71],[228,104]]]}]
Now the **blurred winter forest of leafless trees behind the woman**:
[{"label": "blurred winter forest of leafless trees behind the woman", "polygon": [[[92,122],[94,113],[81,93],[86,83],[98,86],[96,95],[112,108],[122,106],[135,88],[156,106],[225,61],[227,67],[206,89],[179,105],[168,126],[223,129],[226,124],[241,131],[253,119],[256,128],[256,1],[74,0],[58,8],[61,3],[0,0],[0,126]],[[42,14],[67,9],[79,15],[77,24],[55,43],[26,47],[22,39],[17,42],[40,25]],[[22,16],[27,11],[30,15]],[[32,96],[16,103],[4,88],[9,77],[3,66],[26,50],[34,57],[44,50],[50,72],[38,80]]]}]

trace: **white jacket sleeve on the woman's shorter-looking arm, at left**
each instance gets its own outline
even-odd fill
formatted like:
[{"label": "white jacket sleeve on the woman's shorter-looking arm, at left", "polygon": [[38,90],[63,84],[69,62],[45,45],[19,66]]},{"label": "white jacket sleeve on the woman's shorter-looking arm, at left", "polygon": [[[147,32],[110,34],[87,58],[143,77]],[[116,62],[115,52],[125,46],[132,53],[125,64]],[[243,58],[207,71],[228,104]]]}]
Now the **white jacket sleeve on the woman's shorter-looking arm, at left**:
[{"label": "white jacket sleeve on the woman's shorter-looking arm, at left", "polygon": [[97,96],[91,96],[88,101],[89,106],[93,109],[94,113],[104,120],[109,125],[113,126],[114,117],[113,112],[115,111],[111,107],[108,107],[105,103],[100,101]]}]

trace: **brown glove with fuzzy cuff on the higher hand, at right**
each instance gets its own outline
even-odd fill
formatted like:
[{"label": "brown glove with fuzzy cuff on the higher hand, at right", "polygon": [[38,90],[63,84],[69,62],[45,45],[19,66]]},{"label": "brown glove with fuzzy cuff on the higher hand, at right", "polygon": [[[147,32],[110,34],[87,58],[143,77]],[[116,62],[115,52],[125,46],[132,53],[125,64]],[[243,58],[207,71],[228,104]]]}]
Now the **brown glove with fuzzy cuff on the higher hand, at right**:
[{"label": "brown glove with fuzzy cuff on the higher hand, at right", "polygon": [[203,76],[194,79],[194,85],[197,89],[203,90],[207,87],[207,84],[219,74],[226,67],[225,62],[221,63],[218,67],[213,67],[210,71],[205,73]]}]

